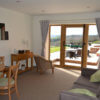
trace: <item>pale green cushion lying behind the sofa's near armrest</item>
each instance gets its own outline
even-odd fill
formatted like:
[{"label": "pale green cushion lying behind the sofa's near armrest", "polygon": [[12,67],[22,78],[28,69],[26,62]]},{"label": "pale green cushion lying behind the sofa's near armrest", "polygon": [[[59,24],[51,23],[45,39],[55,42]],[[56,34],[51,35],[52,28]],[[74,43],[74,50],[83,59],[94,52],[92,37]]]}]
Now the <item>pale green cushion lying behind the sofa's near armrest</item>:
[{"label": "pale green cushion lying behind the sofa's near armrest", "polygon": [[88,95],[88,96],[91,96],[91,97],[96,97],[95,93],[93,93],[93,92],[91,92],[87,89],[76,88],[76,89],[69,90],[69,92],[84,94],[84,95]]}]

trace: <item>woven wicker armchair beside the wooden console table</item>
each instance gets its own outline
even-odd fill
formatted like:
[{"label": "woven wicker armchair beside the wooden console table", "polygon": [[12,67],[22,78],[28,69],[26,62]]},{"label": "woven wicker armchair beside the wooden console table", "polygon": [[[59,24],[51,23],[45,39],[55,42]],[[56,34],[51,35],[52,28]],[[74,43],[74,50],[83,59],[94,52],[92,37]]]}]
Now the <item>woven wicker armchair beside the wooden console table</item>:
[{"label": "woven wicker armchair beside the wooden console table", "polygon": [[46,60],[44,57],[35,54],[34,59],[36,62],[37,71],[39,71],[40,74],[45,72],[47,69],[52,69],[52,74],[54,73],[54,66],[52,61]]}]

